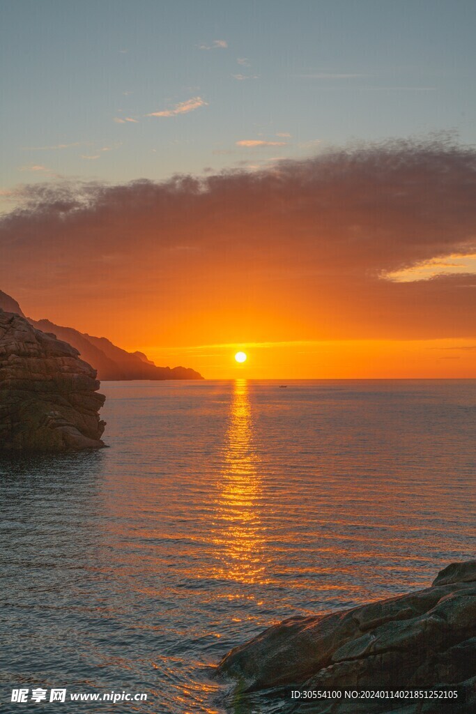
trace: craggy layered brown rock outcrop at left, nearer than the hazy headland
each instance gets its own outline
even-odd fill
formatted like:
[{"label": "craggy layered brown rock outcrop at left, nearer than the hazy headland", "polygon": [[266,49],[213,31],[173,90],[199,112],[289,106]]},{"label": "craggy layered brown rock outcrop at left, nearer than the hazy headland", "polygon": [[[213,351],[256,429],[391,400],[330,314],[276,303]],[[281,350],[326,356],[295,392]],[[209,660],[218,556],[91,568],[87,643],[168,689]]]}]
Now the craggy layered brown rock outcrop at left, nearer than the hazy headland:
[{"label": "craggy layered brown rock outcrop at left, nearer than the hazy headland", "polygon": [[0,309],[0,449],[100,448],[96,370],[54,335]]}]

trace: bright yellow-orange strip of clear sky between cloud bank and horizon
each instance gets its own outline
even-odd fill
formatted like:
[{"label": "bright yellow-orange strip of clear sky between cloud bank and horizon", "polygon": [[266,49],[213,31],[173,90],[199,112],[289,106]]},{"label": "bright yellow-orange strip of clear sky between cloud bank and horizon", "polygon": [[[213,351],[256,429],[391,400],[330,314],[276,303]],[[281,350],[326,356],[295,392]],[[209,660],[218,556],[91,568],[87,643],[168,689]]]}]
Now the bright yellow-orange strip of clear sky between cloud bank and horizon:
[{"label": "bright yellow-orange strip of clear sky between cloud bank and horizon", "polygon": [[[233,348],[252,348],[237,363]],[[158,365],[187,364],[206,379],[452,379],[476,378],[476,345],[468,340],[341,340],[262,342],[186,348],[143,347]],[[245,372],[242,372],[244,370]]]}]

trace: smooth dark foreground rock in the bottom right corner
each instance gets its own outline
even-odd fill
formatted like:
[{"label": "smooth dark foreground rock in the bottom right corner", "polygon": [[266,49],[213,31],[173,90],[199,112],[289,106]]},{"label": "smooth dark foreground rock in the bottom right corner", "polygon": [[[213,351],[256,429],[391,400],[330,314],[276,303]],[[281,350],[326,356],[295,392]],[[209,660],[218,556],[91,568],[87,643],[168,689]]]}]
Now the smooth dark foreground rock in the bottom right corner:
[{"label": "smooth dark foreground rock in the bottom right corner", "polygon": [[[282,713],[476,711],[476,560],[452,563],[430,588],[323,617],[295,617],[231,650],[218,673],[234,701],[276,699]],[[457,690],[456,700],[311,700],[291,690]],[[243,709],[244,711],[245,709]]]}]

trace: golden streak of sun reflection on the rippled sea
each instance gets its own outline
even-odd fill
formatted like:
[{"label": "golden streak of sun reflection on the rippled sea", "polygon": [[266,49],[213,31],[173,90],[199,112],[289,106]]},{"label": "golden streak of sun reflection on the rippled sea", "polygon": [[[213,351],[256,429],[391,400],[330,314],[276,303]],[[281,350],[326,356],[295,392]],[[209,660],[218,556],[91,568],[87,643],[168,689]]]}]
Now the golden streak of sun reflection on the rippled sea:
[{"label": "golden streak of sun reflection on the rippled sea", "polygon": [[219,563],[216,576],[240,583],[264,583],[264,527],[260,519],[263,484],[253,444],[248,382],[237,379],[226,433],[223,470],[216,500]]}]

